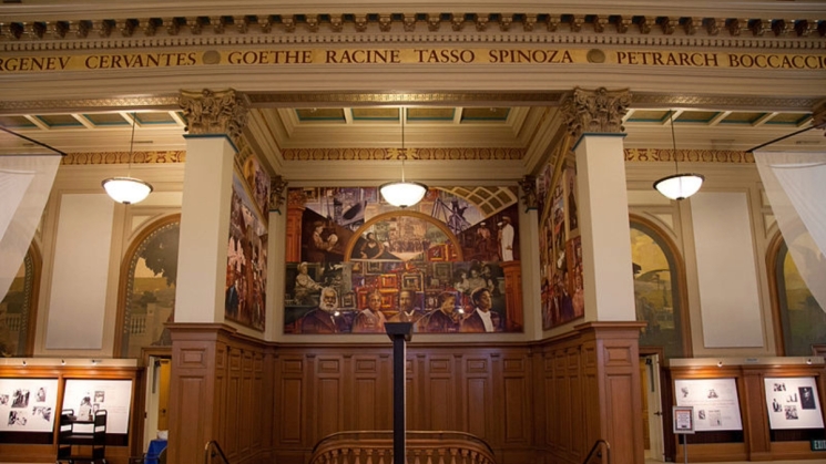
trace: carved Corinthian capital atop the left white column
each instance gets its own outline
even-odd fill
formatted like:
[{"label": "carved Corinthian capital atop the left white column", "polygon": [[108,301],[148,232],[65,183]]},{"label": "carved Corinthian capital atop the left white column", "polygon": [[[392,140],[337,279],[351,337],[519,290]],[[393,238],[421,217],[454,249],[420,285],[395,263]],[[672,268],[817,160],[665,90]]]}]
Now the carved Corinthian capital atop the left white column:
[{"label": "carved Corinthian capital atop the left white column", "polygon": [[227,134],[233,141],[241,137],[249,112],[243,95],[232,89],[181,91],[179,105],[184,111],[190,134]]}]

